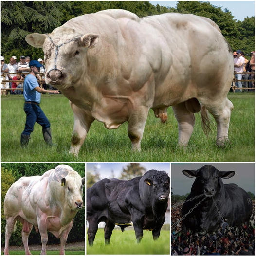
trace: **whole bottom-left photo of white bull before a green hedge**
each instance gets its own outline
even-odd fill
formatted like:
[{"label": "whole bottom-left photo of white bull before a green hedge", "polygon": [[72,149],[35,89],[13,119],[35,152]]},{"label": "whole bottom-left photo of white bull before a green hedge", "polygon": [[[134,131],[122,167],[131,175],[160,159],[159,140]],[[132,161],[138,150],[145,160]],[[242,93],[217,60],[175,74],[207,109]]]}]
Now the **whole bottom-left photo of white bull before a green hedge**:
[{"label": "whole bottom-left photo of white bull before a green hedge", "polygon": [[2,163],[1,253],[84,255],[84,177],[85,163]]}]

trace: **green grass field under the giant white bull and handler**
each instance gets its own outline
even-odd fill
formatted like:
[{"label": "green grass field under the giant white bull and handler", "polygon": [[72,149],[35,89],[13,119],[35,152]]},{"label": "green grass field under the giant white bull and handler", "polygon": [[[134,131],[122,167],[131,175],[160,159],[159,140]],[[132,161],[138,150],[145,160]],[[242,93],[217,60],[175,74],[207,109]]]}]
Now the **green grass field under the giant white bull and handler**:
[{"label": "green grass field under the giant white bull and handler", "polygon": [[[1,161],[165,161],[165,162],[208,162],[208,161],[254,161],[254,93],[229,93],[234,104],[231,115],[229,138],[231,145],[215,146],[216,123],[208,136],[202,131],[200,114],[186,150],[177,148],[178,125],[171,108],[165,124],[155,118],[150,110],[141,152],[132,152],[127,135],[128,123],[117,130],[108,130],[94,121],[81,147],[78,157],[70,155],[73,131],[73,112],[63,95],[42,95],[41,108],[51,122],[55,147],[46,146],[40,125],[36,124],[29,146],[20,147],[20,133],[25,125],[23,96],[1,97]],[[213,119],[213,118],[212,118]]]}]

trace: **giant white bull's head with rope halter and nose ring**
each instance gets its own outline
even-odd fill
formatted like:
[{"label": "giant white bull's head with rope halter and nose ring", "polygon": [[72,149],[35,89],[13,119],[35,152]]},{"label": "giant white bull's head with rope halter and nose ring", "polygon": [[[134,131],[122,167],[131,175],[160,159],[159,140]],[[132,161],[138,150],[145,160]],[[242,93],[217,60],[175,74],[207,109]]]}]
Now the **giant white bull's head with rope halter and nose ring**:
[{"label": "giant white bull's head with rope halter and nose ring", "polygon": [[77,35],[75,30],[56,28],[51,34],[27,35],[28,44],[43,48],[46,66],[45,82],[58,89],[74,85],[86,71],[88,49],[95,46],[98,35]]}]

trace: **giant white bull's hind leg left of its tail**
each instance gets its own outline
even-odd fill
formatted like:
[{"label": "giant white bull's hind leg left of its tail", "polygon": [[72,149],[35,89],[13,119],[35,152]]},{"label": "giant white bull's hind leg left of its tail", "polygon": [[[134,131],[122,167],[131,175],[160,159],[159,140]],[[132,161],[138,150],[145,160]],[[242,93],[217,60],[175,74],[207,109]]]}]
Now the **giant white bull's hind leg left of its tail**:
[{"label": "giant white bull's hind leg left of its tail", "polygon": [[195,116],[187,110],[185,102],[172,106],[172,109],[178,121],[178,146],[186,146],[194,129]]}]

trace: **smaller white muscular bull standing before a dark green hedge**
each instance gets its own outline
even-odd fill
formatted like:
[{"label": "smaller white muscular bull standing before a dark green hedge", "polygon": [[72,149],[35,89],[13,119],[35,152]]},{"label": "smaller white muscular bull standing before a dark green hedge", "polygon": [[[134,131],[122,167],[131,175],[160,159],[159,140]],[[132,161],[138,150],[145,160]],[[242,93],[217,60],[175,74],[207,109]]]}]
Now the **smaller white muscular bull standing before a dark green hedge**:
[{"label": "smaller white muscular bull standing before a dark green hedge", "polygon": [[26,255],[31,254],[28,236],[33,226],[41,235],[41,254],[46,254],[48,231],[60,238],[60,254],[65,254],[73,218],[83,207],[84,181],[70,166],[58,165],[42,176],[21,177],[13,183],[4,199],[4,254],[9,254],[9,239],[17,220],[23,224],[21,233]]}]

